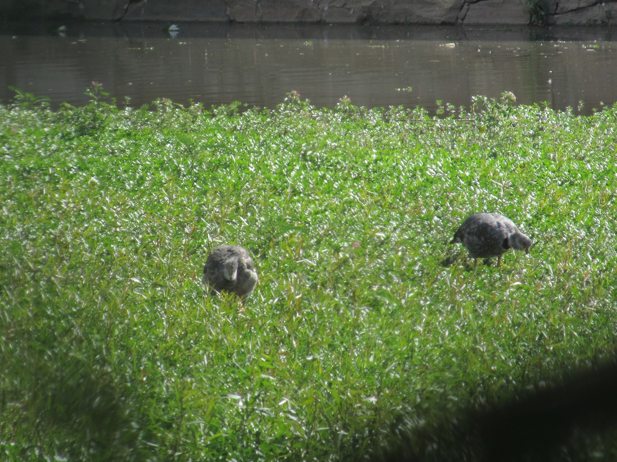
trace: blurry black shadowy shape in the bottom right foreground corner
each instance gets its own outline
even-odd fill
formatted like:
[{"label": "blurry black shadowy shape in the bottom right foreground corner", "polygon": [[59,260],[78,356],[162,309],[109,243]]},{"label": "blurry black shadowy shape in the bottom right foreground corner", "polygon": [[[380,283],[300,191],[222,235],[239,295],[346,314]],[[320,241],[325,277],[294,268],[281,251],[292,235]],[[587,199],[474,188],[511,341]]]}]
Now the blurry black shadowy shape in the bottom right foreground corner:
[{"label": "blurry black shadowy shape in the bottom right foreground corner", "polygon": [[617,363],[550,383],[416,425],[373,461],[617,460]]}]

